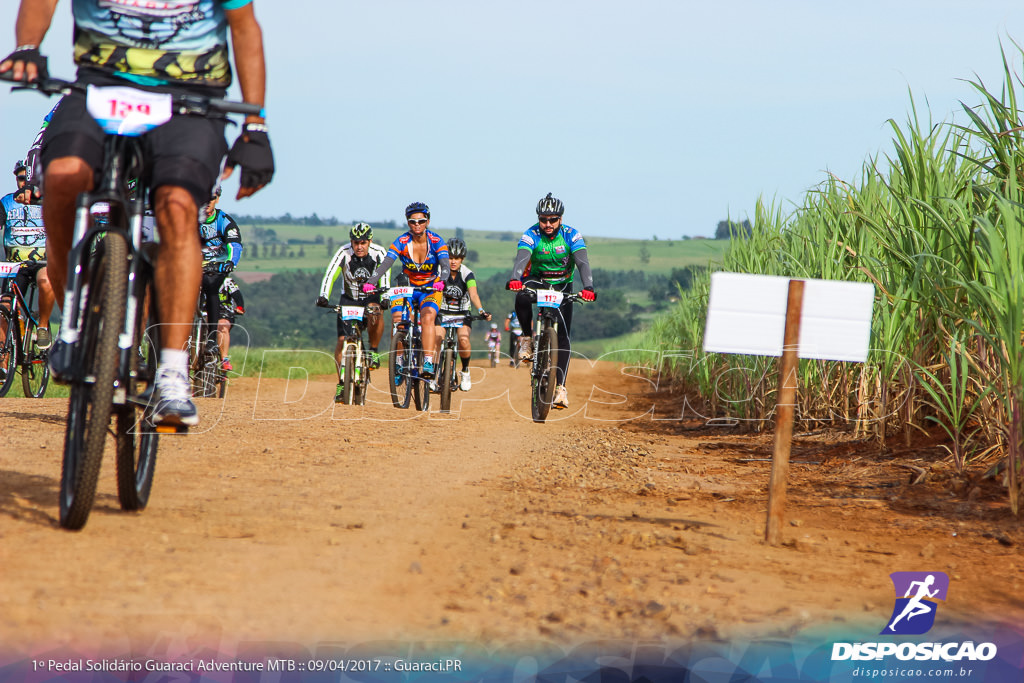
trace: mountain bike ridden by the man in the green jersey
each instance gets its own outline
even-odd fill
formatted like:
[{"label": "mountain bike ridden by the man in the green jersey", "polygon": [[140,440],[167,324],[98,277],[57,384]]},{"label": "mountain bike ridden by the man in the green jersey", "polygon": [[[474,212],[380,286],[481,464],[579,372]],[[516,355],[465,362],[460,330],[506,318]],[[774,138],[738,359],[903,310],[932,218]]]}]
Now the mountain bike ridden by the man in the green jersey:
[{"label": "mountain bike ridden by the man in the green jersey", "polygon": [[529,372],[530,409],[534,422],[544,422],[551,411],[551,401],[558,384],[558,326],[561,322],[559,306],[584,299],[577,294],[565,294],[558,290],[540,289],[526,284],[523,289],[537,303],[534,317],[534,357]]}]

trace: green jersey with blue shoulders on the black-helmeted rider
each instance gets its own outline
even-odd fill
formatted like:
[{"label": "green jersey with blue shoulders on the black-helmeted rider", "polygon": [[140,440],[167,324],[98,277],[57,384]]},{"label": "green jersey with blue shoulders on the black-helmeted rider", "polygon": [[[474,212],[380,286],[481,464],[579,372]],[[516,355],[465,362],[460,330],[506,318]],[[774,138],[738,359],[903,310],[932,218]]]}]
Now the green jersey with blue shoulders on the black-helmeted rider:
[{"label": "green jersey with blue shoulders on the black-helmeted rider", "polygon": [[538,280],[548,285],[571,286],[575,269],[584,287],[594,286],[587,258],[587,244],[574,227],[561,225],[550,238],[534,224],[519,239],[512,280]]}]

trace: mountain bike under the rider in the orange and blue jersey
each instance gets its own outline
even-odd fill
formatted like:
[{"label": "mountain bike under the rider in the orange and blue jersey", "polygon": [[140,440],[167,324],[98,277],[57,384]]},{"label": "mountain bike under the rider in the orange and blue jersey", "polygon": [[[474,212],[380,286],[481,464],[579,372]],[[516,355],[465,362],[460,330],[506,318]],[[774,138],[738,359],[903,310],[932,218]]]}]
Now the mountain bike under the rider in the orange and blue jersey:
[{"label": "mountain bike under the rider in the orange and blue jersey", "polygon": [[388,291],[389,299],[402,299],[401,319],[391,331],[391,351],[388,353],[388,384],[391,388],[391,403],[395,408],[409,408],[413,398],[416,410],[426,411],[430,407],[430,381],[420,374],[423,362],[423,339],[420,330],[420,311],[413,306],[414,292],[433,292],[426,286],[393,287]]}]

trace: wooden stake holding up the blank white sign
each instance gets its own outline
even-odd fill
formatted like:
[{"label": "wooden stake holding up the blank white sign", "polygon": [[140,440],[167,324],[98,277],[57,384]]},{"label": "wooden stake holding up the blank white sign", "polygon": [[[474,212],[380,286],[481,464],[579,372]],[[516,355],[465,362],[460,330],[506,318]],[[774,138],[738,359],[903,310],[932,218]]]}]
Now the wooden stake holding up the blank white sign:
[{"label": "wooden stake holding up the blank white sign", "polygon": [[790,281],[785,306],[785,333],[778,369],[778,399],[775,403],[775,450],[772,454],[771,481],[768,484],[768,521],[765,541],[781,542],[782,516],[785,512],[785,482],[790,475],[790,447],[793,442],[793,415],[797,407],[797,347],[800,344],[800,314],[804,307],[804,281]]}]

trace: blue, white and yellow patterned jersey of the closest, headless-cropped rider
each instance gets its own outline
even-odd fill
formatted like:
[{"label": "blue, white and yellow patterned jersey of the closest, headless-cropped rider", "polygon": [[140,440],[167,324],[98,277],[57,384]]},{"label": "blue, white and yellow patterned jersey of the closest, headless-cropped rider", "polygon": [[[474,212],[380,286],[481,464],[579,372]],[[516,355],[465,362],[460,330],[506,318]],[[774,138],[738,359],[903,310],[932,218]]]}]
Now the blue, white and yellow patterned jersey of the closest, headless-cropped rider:
[{"label": "blue, white and yellow patterned jersey of the closest, headless-cropped rider", "polygon": [[73,0],[75,62],[140,85],[231,83],[225,10],[252,0]]}]

